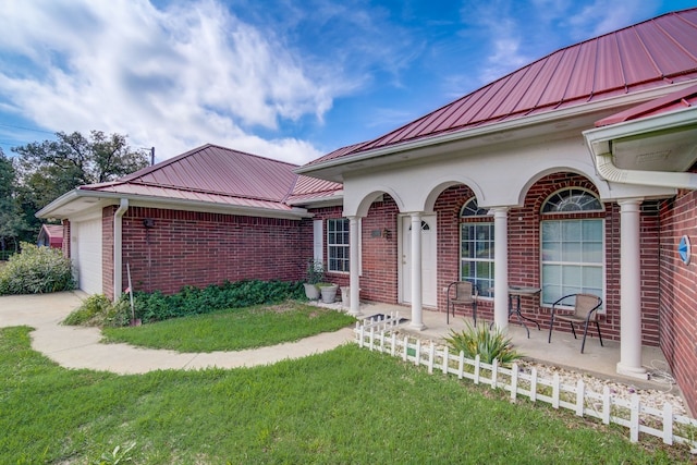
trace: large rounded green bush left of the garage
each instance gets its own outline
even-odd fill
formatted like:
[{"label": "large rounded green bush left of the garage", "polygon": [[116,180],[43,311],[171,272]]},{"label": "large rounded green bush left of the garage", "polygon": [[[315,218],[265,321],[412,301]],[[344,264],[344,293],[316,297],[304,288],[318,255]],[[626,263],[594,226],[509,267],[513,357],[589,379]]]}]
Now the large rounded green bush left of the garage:
[{"label": "large rounded green bush left of the garage", "polygon": [[0,295],[45,294],[75,289],[70,258],[61,250],[22,243],[22,253],[0,270]]}]

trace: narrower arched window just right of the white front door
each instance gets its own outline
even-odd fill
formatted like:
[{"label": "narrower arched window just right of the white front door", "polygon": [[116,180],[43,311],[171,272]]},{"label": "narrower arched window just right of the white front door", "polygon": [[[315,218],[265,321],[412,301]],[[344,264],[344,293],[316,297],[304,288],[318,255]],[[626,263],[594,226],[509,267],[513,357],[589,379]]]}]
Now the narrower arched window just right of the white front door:
[{"label": "narrower arched window just right of the white front door", "polygon": [[493,289],[493,221],[488,210],[470,198],[460,212],[460,279],[477,286],[479,295]]}]

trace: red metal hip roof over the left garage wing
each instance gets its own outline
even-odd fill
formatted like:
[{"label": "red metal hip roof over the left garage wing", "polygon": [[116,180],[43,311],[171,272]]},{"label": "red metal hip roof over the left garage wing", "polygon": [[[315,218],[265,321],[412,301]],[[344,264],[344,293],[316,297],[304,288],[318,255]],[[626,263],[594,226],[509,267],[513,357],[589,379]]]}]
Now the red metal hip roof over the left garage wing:
[{"label": "red metal hip roof over the left garage wing", "polygon": [[290,210],[291,196],[311,199],[341,184],[295,174],[295,164],[205,145],[117,181],[78,187],[146,197]]}]

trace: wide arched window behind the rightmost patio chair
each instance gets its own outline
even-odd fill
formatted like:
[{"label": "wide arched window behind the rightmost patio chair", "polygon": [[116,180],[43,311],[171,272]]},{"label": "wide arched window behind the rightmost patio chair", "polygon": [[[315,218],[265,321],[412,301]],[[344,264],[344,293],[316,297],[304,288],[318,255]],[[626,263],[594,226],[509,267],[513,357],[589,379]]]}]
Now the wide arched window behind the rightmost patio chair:
[{"label": "wide arched window behind the rightmost patio chair", "polygon": [[574,187],[555,192],[542,204],[543,304],[579,292],[603,296],[604,223],[588,215],[602,210],[602,203],[594,193]]}]

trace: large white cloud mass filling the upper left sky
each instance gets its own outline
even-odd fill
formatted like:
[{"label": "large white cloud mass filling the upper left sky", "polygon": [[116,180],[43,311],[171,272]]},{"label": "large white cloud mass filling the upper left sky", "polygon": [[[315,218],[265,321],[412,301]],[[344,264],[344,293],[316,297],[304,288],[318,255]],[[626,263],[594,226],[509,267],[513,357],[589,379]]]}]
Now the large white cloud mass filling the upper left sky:
[{"label": "large white cloud mass filling the upper left sky", "polygon": [[17,1],[0,24],[5,108],[51,131],[129,134],[158,159],[210,142],[308,161],[321,155],[308,143],[266,140],[255,127],[321,119],[347,88],[213,0]]}]

